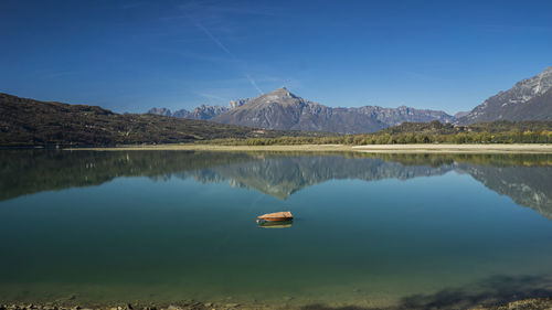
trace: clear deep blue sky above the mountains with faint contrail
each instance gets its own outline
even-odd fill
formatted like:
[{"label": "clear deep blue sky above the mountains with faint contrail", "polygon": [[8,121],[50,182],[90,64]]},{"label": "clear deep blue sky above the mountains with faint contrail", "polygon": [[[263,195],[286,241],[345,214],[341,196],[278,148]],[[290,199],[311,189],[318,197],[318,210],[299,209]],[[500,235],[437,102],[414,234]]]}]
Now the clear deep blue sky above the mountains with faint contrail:
[{"label": "clear deep blue sky above the mountains with faint contrail", "polygon": [[286,86],[469,110],[552,65],[552,1],[0,0],[0,92],[141,113]]}]

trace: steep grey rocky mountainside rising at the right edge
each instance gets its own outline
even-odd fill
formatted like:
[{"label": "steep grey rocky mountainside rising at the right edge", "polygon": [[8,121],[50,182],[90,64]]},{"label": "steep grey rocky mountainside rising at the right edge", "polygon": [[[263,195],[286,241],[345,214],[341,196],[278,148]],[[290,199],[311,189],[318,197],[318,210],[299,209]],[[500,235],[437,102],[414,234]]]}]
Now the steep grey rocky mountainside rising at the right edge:
[{"label": "steep grey rocky mountainside rising at the right edge", "polygon": [[500,92],[459,118],[460,124],[491,120],[552,120],[552,66]]}]

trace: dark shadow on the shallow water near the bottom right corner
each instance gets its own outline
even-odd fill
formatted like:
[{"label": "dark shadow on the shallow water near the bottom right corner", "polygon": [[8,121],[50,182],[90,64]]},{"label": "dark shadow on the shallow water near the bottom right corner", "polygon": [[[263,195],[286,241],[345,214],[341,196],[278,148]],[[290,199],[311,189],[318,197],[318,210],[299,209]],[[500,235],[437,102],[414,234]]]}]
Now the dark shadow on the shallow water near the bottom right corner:
[{"label": "dark shadow on the shallow water near the bottom right corner", "polygon": [[459,288],[445,288],[431,295],[403,297],[392,308],[358,306],[327,307],[308,304],[304,310],[374,310],[374,309],[469,309],[479,306],[507,303],[528,298],[552,297],[550,276],[493,276]]}]

